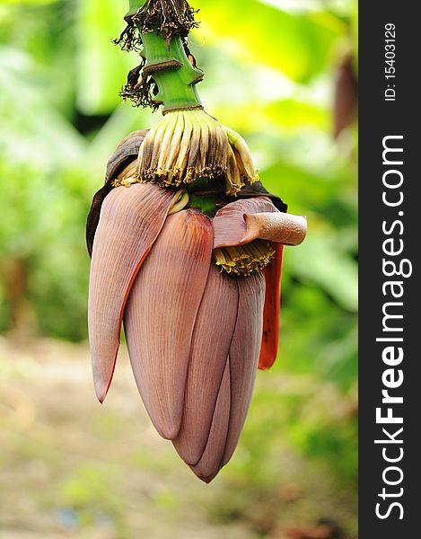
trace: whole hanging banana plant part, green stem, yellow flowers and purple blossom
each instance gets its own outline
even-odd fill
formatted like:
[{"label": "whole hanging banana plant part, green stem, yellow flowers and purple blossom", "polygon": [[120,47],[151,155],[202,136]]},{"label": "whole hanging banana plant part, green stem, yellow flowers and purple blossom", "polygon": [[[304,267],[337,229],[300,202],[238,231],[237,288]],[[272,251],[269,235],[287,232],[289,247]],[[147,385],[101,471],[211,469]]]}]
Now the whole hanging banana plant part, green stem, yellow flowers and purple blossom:
[{"label": "whole hanging banana plant part, green stem, yellow flowers and purple blossom", "polygon": [[204,109],[189,4],[130,0],[125,20],[116,42],[141,63],[121,95],[162,119],[118,144],[88,216],[94,386],[103,402],[124,324],[154,427],[210,482],[238,444],[258,367],[276,359],[284,245],[302,243],[307,224]]}]

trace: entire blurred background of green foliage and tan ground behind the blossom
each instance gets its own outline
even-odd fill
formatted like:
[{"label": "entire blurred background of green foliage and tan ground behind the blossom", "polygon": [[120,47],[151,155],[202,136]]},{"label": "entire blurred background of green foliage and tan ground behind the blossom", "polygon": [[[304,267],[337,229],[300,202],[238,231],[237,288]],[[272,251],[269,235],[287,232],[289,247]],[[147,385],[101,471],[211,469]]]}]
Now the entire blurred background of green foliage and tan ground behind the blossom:
[{"label": "entire blurred background of green foliage and tan ground behind the blossom", "polygon": [[356,1],[193,5],[206,110],[309,219],[286,250],[279,358],[210,487],[150,430],[124,358],[96,406],[85,218],[118,140],[157,116],[118,97],[136,66],[111,43],[126,0],[1,0],[2,537],[356,536],[355,125],[333,136],[345,57],[356,70]]}]

